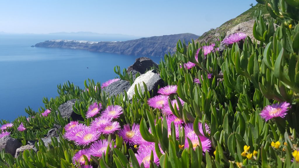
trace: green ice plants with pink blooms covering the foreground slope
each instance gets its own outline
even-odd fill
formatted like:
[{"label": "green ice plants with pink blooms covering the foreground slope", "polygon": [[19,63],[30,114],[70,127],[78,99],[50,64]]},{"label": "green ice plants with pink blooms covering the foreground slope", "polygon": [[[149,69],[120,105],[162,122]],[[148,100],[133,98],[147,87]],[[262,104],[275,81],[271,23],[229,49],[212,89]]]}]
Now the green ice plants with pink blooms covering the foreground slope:
[{"label": "green ice plants with pink blooms covering the foreground slope", "polygon": [[[39,112],[26,109],[28,119],[3,120],[1,143],[10,136],[34,148],[13,158],[0,143],[0,167],[299,167],[299,3],[259,2],[271,14],[254,15],[259,44],[244,33],[211,45],[179,41],[145,74],[116,67],[133,83],[124,94],[102,91],[118,79],[82,89],[68,82]],[[154,78],[164,81],[151,85],[158,91],[146,84]],[[78,121],[62,115],[69,100]]]}]

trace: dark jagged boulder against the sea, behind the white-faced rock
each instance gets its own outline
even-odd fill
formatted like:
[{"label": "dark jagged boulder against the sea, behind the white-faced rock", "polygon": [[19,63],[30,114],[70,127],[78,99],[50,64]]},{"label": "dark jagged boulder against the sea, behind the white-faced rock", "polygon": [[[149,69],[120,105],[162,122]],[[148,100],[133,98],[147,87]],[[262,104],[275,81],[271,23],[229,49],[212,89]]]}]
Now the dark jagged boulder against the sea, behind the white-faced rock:
[{"label": "dark jagged boulder against the sea, behind the white-faced rock", "polygon": [[152,61],[150,58],[140,57],[136,59],[133,65],[127,68],[127,72],[135,70],[138,71],[140,74],[144,74],[146,70],[149,70],[153,66],[158,68],[158,64]]}]

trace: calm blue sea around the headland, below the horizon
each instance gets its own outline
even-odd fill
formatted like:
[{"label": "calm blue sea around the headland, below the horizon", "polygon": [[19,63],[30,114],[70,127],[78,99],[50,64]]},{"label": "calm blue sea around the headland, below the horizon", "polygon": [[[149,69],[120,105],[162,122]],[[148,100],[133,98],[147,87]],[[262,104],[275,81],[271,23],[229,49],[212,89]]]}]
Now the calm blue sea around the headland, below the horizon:
[{"label": "calm blue sea around the headland, below the horizon", "polygon": [[[127,68],[138,58],[85,50],[30,47],[45,40],[64,38],[45,35],[0,35],[0,119],[12,121],[18,116],[27,116],[25,108],[28,106],[37,111],[40,106],[44,106],[42,98],[58,96],[57,84],[67,80],[84,88],[84,80],[88,78],[101,83],[113,79],[117,76],[113,71],[116,65],[121,69]],[[72,39],[125,40],[115,37]],[[150,58],[159,63],[162,57]]]}]

